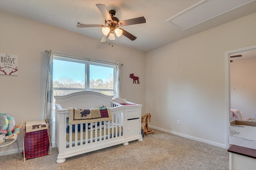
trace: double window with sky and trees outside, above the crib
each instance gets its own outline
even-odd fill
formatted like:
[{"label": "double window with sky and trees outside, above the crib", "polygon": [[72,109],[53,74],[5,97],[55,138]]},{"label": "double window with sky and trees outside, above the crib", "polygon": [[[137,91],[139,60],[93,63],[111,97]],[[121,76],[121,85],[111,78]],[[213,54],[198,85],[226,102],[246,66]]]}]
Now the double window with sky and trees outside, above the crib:
[{"label": "double window with sky and trees outside, above the crib", "polygon": [[116,64],[68,55],[53,55],[53,95],[97,91],[118,97]]}]

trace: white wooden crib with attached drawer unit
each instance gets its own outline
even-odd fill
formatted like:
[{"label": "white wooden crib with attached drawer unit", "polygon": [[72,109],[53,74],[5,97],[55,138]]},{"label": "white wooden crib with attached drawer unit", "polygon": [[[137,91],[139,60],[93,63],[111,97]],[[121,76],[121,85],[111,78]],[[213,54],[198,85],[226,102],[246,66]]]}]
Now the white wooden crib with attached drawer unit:
[{"label": "white wooden crib with attached drawer unit", "polygon": [[[59,152],[57,163],[63,163],[71,156],[117,144],[128,145],[132,140],[143,140],[140,119],[142,105],[120,98],[112,100],[112,97],[94,91],[54,96],[56,100],[55,146]],[[68,108],[92,109],[102,106],[110,108],[112,121],[80,124],[80,128],[78,128],[79,125],[68,126]]]}]

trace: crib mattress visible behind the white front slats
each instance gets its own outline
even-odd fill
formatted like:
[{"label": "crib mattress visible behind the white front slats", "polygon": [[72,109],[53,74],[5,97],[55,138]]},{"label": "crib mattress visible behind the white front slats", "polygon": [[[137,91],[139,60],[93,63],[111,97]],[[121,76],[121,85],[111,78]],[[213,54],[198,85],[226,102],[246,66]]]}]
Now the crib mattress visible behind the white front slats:
[{"label": "crib mattress visible behind the white front slats", "polygon": [[[117,132],[119,132],[119,127],[117,127]],[[123,130],[123,127],[121,126],[121,132],[122,132],[122,130]],[[106,135],[108,135],[108,128],[106,128]],[[110,131],[110,134],[112,134],[112,127],[109,129],[109,131]],[[87,131],[88,132],[88,139],[90,139],[90,137],[91,137],[91,131],[90,130],[88,130]],[[114,127],[114,133],[116,133],[116,127]],[[104,135],[104,128],[102,128],[101,129],[101,134],[102,134],[102,136]],[[85,140],[85,135],[86,135],[86,132],[84,131],[83,132],[83,140]],[[78,140],[80,140],[80,136],[81,136],[81,132],[77,132],[77,138],[78,138]],[[97,136],[96,137],[99,137],[100,136],[100,130],[99,129],[97,129]],[[95,138],[95,130],[92,130],[92,138]],[[75,139],[76,139],[76,137],[75,137],[75,132],[72,132],[72,141],[75,141]],[[69,142],[69,133],[66,133],[66,140],[67,140],[67,142]]]}]

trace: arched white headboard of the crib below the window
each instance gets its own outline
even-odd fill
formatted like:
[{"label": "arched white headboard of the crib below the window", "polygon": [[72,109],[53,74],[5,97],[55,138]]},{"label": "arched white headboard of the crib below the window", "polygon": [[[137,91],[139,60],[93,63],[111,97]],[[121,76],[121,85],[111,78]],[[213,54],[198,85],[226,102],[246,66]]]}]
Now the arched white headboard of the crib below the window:
[{"label": "arched white headboard of the crib below the window", "polygon": [[60,104],[62,109],[100,108],[102,105],[111,107],[113,96],[104,95],[95,91],[79,91],[64,96],[54,96],[55,103]]}]

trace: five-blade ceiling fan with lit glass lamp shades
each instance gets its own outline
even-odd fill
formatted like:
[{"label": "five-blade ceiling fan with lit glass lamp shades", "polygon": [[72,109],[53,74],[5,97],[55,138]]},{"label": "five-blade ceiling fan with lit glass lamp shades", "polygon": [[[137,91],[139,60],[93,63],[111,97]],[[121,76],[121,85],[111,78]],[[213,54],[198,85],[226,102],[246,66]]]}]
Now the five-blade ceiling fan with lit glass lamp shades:
[{"label": "five-blade ceiling fan with lit glass lamp shades", "polygon": [[105,18],[105,25],[101,25],[101,24],[86,25],[86,24],[82,24],[81,22],[77,22],[76,27],[78,28],[102,27],[102,33],[104,34],[104,36],[100,42],[106,42],[107,38],[110,40],[115,40],[116,38],[114,34],[116,34],[117,37],[124,35],[133,41],[137,37],[130,34],[126,30],[118,27],[146,23],[146,19],[144,18],[144,16],[138,17],[138,18],[132,18],[130,20],[119,21],[118,18],[114,17],[116,15],[115,10],[108,11],[106,6],[103,4],[96,4],[96,6],[98,7],[98,9],[100,10],[100,12]]}]

